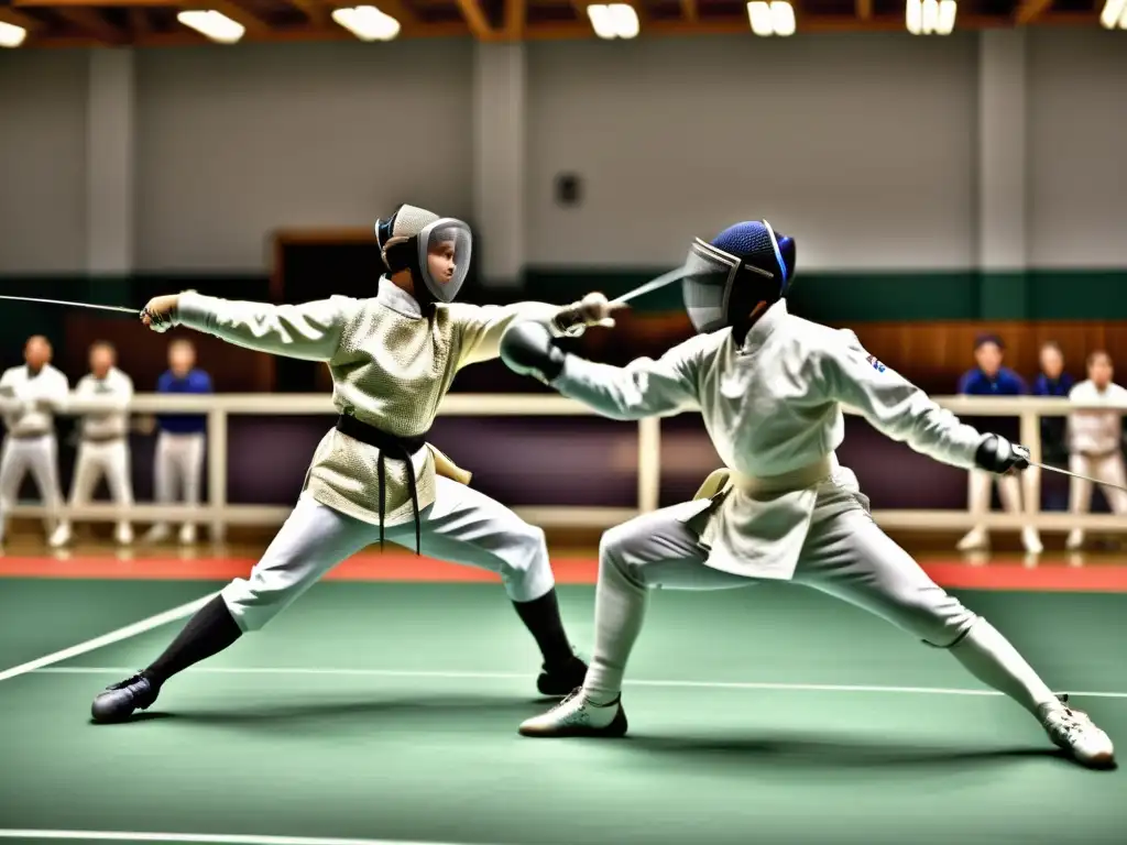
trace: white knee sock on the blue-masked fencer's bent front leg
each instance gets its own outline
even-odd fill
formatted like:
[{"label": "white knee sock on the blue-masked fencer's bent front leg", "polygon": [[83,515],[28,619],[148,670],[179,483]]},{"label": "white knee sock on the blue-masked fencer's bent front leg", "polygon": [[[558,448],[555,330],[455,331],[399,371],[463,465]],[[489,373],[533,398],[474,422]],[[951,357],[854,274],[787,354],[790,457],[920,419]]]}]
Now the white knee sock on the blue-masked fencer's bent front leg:
[{"label": "white knee sock on the blue-masked fencer's bent front leg", "polygon": [[624,571],[621,555],[603,550],[595,592],[595,653],[583,684],[594,704],[609,704],[622,691],[627,660],[646,619],[649,590]]}]

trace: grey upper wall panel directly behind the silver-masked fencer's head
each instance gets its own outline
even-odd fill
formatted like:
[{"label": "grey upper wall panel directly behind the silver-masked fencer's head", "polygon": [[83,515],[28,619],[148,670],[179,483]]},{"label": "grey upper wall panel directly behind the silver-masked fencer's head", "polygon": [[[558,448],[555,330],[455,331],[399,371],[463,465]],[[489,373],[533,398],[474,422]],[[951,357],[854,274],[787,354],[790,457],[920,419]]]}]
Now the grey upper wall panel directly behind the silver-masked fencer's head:
[{"label": "grey upper wall panel directly behind the silver-masked fencer's head", "polygon": [[369,225],[399,202],[469,215],[470,50],[142,52],[137,268],[257,270],[276,228]]}]

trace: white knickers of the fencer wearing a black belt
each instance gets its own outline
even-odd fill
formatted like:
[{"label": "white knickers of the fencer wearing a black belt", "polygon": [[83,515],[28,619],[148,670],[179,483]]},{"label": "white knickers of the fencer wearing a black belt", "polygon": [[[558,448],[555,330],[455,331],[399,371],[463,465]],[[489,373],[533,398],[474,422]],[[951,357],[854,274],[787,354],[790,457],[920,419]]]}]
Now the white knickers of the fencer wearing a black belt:
[{"label": "white knickers of the fencer wearing a black belt", "polygon": [[[514,602],[532,602],[556,586],[544,532],[488,496],[438,475],[435,500],[419,514],[423,554],[497,572]],[[389,525],[390,542],[415,550],[415,523]],[[347,516],[302,493],[249,578],[223,588],[242,631],[255,631],[326,572],[378,543],[380,526]]]}]

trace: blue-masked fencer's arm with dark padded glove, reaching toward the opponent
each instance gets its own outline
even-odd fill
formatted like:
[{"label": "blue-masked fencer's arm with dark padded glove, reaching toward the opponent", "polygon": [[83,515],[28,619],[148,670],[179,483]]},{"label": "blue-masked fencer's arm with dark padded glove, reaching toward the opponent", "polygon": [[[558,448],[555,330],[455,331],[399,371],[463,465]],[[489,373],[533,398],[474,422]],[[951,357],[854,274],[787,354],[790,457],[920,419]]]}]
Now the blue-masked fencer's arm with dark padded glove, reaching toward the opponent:
[{"label": "blue-masked fencer's arm with dark padded glove, reaching toward the opponent", "polygon": [[637,358],[624,367],[565,354],[538,326],[518,323],[506,332],[502,357],[511,370],[532,375],[611,419],[667,417],[700,410],[698,373],[715,336],[696,336],[657,361]]}]

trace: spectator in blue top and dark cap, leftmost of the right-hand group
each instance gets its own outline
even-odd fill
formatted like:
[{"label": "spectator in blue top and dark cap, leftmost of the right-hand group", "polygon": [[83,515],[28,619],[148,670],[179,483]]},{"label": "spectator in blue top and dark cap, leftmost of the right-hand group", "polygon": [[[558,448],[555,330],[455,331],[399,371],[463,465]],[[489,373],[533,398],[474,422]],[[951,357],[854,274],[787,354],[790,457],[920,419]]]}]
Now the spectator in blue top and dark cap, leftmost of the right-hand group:
[{"label": "spectator in blue top and dark cap, leftmost of the right-hand group", "polygon": [[[979,335],[975,340],[977,366],[959,379],[959,393],[971,397],[1020,397],[1029,393],[1020,375],[1002,366],[1005,345],[997,335]],[[971,470],[967,481],[967,501],[971,514],[982,516],[990,510],[991,481],[997,480],[997,495],[1002,507],[1011,514],[1021,513],[1021,482],[1014,475],[992,475]],[[1045,550],[1040,535],[1032,525],[1021,530],[1026,551],[1039,554]],[[990,548],[990,532],[978,523],[959,541],[960,552],[983,551]]]}]

